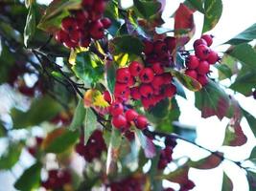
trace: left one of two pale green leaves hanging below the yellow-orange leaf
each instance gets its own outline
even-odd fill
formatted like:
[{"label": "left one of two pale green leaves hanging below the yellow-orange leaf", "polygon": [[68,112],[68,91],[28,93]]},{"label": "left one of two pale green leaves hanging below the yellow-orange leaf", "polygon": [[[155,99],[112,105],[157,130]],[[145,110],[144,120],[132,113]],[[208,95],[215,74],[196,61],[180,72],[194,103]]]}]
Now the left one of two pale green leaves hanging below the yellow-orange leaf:
[{"label": "left one of two pale green leaves hanging below the yellow-orange leaf", "polygon": [[69,126],[69,129],[72,130],[72,131],[79,129],[81,127],[82,123],[83,123],[85,114],[86,114],[86,111],[85,111],[85,108],[83,106],[83,100],[80,99],[79,103],[78,103],[78,106],[75,110],[74,117],[72,118],[72,122]]}]

